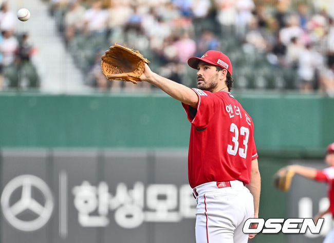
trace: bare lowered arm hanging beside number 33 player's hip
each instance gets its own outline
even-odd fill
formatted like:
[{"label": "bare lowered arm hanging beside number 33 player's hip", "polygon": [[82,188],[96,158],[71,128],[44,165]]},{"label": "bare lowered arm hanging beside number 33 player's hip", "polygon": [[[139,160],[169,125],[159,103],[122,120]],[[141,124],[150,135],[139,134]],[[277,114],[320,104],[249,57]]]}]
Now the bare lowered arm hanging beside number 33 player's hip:
[{"label": "bare lowered arm hanging beside number 33 player's hip", "polygon": [[[254,200],[254,218],[258,217],[260,193],[261,193],[261,175],[258,170],[257,159],[252,160],[251,167],[251,180],[249,184],[246,185],[250,193],[253,195]],[[249,234],[248,238],[253,238],[256,234]]]}]

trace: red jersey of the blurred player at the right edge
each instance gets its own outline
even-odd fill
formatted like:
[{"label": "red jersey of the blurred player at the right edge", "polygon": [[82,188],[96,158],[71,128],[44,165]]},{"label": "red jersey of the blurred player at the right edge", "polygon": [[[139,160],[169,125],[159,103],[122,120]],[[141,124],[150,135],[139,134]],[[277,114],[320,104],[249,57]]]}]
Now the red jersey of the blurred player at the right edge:
[{"label": "red jersey of the blurred player at the right edge", "polygon": [[329,211],[334,218],[334,167],[328,167],[325,170],[317,170],[315,178],[317,181],[327,182]]}]

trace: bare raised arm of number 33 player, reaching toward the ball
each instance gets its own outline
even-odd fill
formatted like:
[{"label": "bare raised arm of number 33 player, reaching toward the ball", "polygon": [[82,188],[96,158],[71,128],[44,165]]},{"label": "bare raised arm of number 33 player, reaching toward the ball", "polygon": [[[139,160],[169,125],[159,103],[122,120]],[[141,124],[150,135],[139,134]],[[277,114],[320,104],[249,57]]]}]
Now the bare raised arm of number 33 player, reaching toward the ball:
[{"label": "bare raised arm of number 33 player, reaching toward the ball", "polygon": [[145,64],[145,70],[140,76],[141,81],[146,81],[154,86],[160,88],[166,94],[170,95],[174,99],[183,102],[184,104],[190,105],[197,108],[198,97],[194,90],[176,83],[172,80],[163,78],[157,73],[151,71],[149,65]]}]

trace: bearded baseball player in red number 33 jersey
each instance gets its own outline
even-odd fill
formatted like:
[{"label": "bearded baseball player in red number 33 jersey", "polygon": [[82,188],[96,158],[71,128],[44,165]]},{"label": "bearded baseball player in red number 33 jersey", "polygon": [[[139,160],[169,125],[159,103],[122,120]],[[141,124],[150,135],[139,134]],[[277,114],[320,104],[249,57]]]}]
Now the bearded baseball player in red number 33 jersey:
[{"label": "bearded baseball player in red number 33 jersey", "polygon": [[231,95],[232,65],[222,52],[190,58],[197,88],[188,88],[151,71],[141,81],[182,102],[191,122],[188,176],[197,201],[197,243],[245,243],[248,218],[258,217],[261,178],[253,121]]}]

